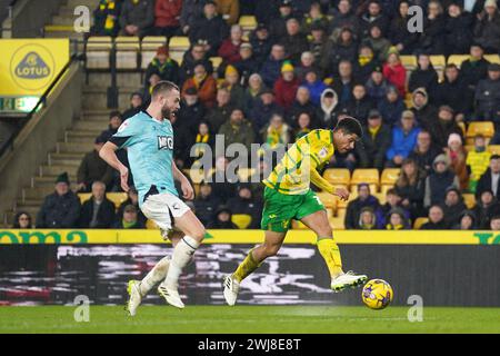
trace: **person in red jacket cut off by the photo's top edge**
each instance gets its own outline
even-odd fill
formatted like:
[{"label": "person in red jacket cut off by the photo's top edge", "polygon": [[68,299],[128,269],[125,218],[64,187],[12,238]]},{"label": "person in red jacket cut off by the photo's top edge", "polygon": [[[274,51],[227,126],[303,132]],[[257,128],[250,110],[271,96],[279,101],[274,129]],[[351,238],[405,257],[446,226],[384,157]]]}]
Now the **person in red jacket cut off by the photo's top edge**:
[{"label": "person in red jacket cut off by the photo's top edge", "polygon": [[176,36],[180,29],[182,0],[156,0],[154,29],[157,36]]}]

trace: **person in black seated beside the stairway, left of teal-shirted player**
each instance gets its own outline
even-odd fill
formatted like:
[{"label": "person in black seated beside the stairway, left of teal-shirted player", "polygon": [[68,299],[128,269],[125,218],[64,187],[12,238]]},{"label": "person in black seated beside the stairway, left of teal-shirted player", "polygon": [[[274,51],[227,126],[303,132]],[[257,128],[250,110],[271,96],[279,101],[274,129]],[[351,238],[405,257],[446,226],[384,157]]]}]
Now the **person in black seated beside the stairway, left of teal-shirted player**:
[{"label": "person in black seated beside the stairway, left of teal-shirted player", "polygon": [[77,172],[79,192],[89,192],[94,181],[102,181],[110,186],[113,178],[113,169],[99,157],[99,151],[104,146],[107,139],[103,136],[96,138],[93,150],[87,154]]}]

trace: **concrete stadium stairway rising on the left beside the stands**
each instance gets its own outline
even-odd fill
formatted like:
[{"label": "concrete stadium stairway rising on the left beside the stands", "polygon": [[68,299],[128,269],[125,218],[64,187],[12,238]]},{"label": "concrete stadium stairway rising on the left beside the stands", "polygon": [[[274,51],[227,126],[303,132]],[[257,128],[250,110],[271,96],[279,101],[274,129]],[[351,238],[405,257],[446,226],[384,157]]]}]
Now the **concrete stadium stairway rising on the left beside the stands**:
[{"label": "concrete stadium stairway rising on the left beside the stands", "polygon": [[[22,187],[12,210],[7,211],[4,225],[10,226],[17,211],[27,211],[34,219],[43,198],[53,192],[58,175],[68,172],[73,191],[77,186],[77,171],[83,156],[93,149],[96,137],[108,128],[107,88],[109,73],[89,73],[88,83],[82,88],[82,116],[66,131],[56,148],[47,154],[47,160],[31,177],[31,185]],[[130,95],[141,87],[140,73],[119,73],[119,110],[129,107]]]}]

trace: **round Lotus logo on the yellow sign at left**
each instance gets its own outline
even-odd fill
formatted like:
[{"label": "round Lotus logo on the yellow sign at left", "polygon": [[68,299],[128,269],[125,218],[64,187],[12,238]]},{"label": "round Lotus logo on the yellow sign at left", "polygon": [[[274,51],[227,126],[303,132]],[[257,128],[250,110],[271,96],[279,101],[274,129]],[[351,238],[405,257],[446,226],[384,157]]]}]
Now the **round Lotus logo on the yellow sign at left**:
[{"label": "round Lotus logo on the yellow sign at left", "polygon": [[47,48],[27,44],[12,56],[10,72],[19,87],[38,91],[50,85],[54,77],[54,59]]}]

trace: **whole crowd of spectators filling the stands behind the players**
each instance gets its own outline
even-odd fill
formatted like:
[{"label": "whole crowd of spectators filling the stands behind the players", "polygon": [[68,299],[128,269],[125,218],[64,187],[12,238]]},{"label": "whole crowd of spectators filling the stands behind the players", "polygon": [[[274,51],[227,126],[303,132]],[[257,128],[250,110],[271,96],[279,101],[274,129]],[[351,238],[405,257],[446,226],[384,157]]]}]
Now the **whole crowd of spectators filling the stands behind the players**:
[{"label": "whole crowd of spectators filling the stands behind the players", "polygon": [[[408,30],[413,4],[424,10],[421,33]],[[238,23],[249,14],[258,26],[247,36]],[[187,36],[191,47],[181,63],[168,46],[158,49],[144,87],[131,96],[127,111],[110,113],[109,129],[81,162],[78,191],[91,192],[90,200],[80,206],[61,175],[37,227],[144,226],[133,189],[118,211],[107,200],[106,191],[121,188],[98,152],[148,105],[151,88],[170,80],[182,97],[172,117],[180,168],[189,169],[213,147],[217,134],[224,135],[226,146],[276,148],[353,116],[364,126],[361,142],[324,168],[401,172],[383,205],[370,185],[358,185],[358,197],[347,207],[347,229],[411,229],[417,218],[428,217],[422,229],[500,230],[500,156],[488,150],[500,145],[500,65],[484,58],[500,52],[494,0],[101,0],[92,34]],[[448,63],[442,73],[430,57],[464,53],[460,66]],[[410,73],[401,62],[404,55],[418,59]],[[222,58],[217,69],[211,57]],[[474,121],[493,122],[497,134],[477,135],[466,149],[472,142],[464,128]],[[189,155],[193,146],[197,157]],[[120,154],[126,162],[127,154]],[[213,177],[223,176],[229,160],[213,160]],[[476,195],[473,209],[464,192]],[[259,228],[262,186],[202,182],[192,208],[210,228],[237,228],[233,214],[250,215],[250,228]],[[21,218],[30,217],[18,214],[16,226],[22,226]]]}]

